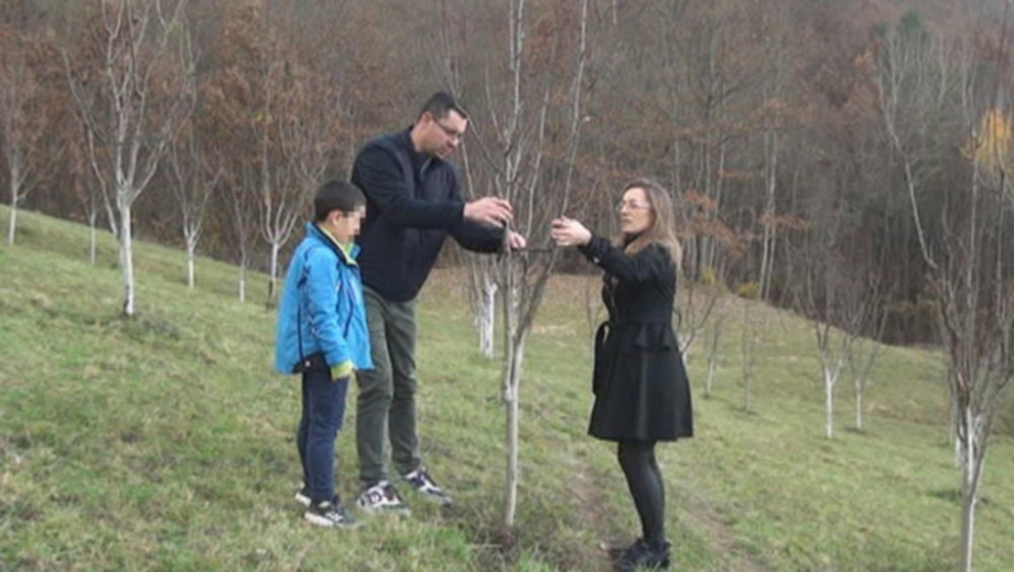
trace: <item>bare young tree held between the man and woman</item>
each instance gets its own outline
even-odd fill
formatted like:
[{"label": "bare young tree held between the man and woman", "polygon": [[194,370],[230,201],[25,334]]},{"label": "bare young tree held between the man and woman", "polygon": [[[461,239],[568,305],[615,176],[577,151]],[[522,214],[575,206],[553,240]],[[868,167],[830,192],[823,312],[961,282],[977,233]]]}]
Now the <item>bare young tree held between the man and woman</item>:
[{"label": "bare young tree held between the man and woman", "polygon": [[[515,229],[530,245],[547,245],[550,222],[570,206],[575,178],[589,1],[558,5],[530,27],[524,0],[511,0],[504,74],[487,80],[486,142],[474,129],[496,194],[514,206]],[[553,24],[553,25],[550,25]],[[568,29],[568,34],[551,32]],[[531,34],[531,35],[530,35]],[[554,101],[566,105],[554,106]],[[474,120],[474,118],[473,118]],[[478,121],[475,123],[479,123]],[[478,126],[476,126],[478,127]],[[486,131],[486,129],[483,129]],[[507,480],[504,525],[514,527],[518,506],[520,388],[524,348],[558,251],[545,247],[509,253],[495,276],[504,307],[503,399],[507,413]]]}]

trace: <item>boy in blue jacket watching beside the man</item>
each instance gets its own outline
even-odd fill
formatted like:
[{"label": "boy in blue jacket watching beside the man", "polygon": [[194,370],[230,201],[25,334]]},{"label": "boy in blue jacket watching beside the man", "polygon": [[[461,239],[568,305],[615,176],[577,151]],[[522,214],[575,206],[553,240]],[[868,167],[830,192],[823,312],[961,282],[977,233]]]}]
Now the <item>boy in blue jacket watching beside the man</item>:
[{"label": "boy in blue jacket watching beside the man", "polygon": [[275,368],[302,376],[303,413],[297,434],[303,488],[295,499],[316,525],[355,525],[335,491],[335,438],[345,416],[349,378],[373,367],[363,288],[353,243],[366,199],[353,184],[325,183],[313,200],[314,221],[286,275]]}]

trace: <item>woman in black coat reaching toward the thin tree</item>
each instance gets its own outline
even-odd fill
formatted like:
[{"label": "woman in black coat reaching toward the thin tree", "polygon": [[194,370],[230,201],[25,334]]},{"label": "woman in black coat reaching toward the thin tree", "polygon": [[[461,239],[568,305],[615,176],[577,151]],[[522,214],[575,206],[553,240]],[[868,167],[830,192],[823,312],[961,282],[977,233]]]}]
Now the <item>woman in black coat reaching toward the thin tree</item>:
[{"label": "woman in black coat reaching toward the thin tree", "polygon": [[681,250],[668,193],[647,179],[624,188],[618,245],[577,220],[553,221],[558,246],[577,246],[605,270],[602,297],[608,321],[595,333],[589,435],[618,442],[617,453],[643,536],[618,555],[619,570],[664,569],[665,491],[655,443],[693,435],[690,385],[673,331],[673,302]]}]

